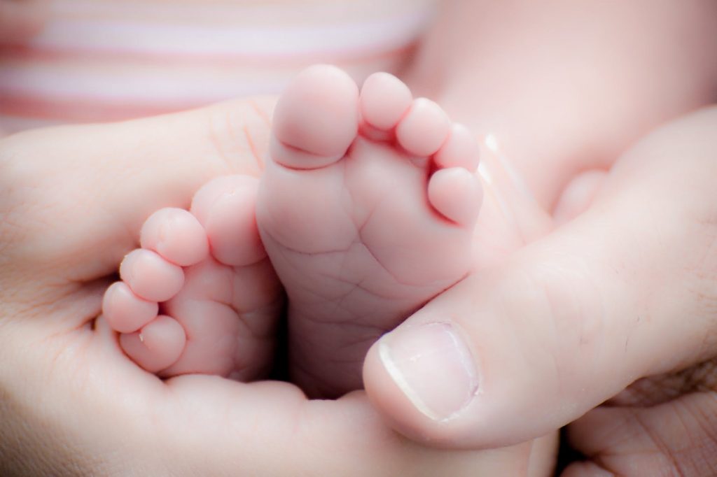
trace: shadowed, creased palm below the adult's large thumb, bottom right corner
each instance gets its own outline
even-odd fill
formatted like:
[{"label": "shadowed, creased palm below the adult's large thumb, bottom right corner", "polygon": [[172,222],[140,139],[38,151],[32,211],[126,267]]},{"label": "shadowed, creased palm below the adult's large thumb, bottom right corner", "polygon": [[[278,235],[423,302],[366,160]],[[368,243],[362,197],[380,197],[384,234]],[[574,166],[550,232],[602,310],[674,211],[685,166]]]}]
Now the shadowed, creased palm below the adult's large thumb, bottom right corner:
[{"label": "shadowed, creased palm below the adult's large thumb, bottom right corner", "polygon": [[716,392],[717,357],[638,380],[568,426],[584,460],[562,475],[716,475]]}]

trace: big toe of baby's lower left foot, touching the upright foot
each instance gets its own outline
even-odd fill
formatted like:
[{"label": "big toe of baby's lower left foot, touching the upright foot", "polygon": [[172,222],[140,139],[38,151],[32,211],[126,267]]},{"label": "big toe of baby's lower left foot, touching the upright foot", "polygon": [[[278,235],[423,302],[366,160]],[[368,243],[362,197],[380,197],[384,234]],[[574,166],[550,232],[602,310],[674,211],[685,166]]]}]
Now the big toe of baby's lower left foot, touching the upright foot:
[{"label": "big toe of baby's lower left foot, touching the upright foot", "polygon": [[191,212],[204,226],[217,261],[247,266],[266,257],[256,220],[257,178],[229,175],[206,183],[194,195]]}]

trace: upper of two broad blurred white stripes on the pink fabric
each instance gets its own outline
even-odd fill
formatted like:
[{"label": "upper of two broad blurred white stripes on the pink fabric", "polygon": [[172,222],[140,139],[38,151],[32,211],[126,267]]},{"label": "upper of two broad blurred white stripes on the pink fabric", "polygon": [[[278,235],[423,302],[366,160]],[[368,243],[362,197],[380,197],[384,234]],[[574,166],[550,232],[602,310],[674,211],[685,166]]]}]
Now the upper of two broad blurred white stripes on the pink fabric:
[{"label": "upper of two broad blurred white stripes on the pink fabric", "polygon": [[388,19],[281,28],[58,19],[51,22],[32,44],[40,48],[152,54],[262,57],[326,54],[403,47],[416,39],[430,18],[430,11],[419,9]]}]

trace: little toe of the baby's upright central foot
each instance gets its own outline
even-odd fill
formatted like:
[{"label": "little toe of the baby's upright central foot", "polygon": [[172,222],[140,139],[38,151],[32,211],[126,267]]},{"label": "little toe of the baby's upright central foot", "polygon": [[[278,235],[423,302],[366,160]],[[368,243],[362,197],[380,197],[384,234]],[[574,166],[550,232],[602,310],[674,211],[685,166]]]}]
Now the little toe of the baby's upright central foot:
[{"label": "little toe of the baby's upright central foot", "polygon": [[478,177],[464,168],[437,170],[428,183],[431,205],[460,226],[472,227],[483,201]]}]

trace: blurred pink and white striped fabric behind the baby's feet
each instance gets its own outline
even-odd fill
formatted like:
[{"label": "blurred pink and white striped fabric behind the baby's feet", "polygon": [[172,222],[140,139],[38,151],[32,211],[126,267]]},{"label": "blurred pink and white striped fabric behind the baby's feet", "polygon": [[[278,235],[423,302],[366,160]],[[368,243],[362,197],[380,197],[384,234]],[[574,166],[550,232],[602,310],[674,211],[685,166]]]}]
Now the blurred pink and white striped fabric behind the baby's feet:
[{"label": "blurred pink and white striped fabric behind the baby's feet", "polygon": [[279,92],[308,64],[395,72],[435,0],[51,0],[0,47],[0,129],[123,120]]}]

